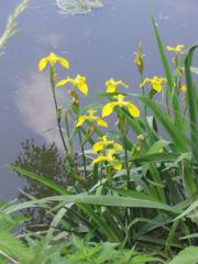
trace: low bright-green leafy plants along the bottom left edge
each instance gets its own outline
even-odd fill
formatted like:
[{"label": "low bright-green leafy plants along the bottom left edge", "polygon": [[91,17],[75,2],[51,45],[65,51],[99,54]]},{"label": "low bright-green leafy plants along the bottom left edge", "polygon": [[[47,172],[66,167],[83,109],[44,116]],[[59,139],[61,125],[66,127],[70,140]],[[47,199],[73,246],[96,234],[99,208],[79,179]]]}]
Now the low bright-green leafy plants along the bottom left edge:
[{"label": "low bright-green leafy plants along the bottom left edge", "polygon": [[[119,243],[94,243],[88,239],[65,237],[65,232],[58,235],[52,235],[48,230],[46,235],[40,232],[25,232],[21,234],[22,239],[13,235],[13,228],[19,228],[20,223],[16,217],[11,217],[4,211],[9,205],[0,206],[0,263],[13,264],[87,264],[87,263],[118,263],[118,264],[145,264],[158,258],[147,254],[138,253],[134,249],[120,249]],[[58,219],[54,221],[54,226]],[[59,238],[58,238],[59,237]],[[61,238],[62,237],[62,238]]]}]

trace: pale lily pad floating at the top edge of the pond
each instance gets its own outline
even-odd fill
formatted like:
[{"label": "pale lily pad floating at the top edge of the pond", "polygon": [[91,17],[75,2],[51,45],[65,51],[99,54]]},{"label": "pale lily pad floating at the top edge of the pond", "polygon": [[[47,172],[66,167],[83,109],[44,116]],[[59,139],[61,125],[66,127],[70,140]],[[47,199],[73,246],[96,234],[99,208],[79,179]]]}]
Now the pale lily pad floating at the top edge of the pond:
[{"label": "pale lily pad floating at the top edge of the pond", "polygon": [[100,0],[56,0],[57,7],[68,15],[84,14],[101,8]]}]

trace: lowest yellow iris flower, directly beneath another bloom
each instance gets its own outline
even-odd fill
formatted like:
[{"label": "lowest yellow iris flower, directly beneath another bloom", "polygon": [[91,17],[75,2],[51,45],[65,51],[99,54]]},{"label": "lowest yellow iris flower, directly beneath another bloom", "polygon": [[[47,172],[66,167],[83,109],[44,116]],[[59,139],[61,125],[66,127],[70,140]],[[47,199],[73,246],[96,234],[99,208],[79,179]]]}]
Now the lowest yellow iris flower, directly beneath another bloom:
[{"label": "lowest yellow iris flower, directly beneath another bloom", "polygon": [[114,154],[116,154],[116,150],[108,150],[107,154],[103,154],[103,155],[95,158],[92,161],[92,164],[107,162],[107,163],[110,163],[114,169],[120,170],[122,168],[122,163],[119,162],[119,160],[117,160],[113,156]]}]

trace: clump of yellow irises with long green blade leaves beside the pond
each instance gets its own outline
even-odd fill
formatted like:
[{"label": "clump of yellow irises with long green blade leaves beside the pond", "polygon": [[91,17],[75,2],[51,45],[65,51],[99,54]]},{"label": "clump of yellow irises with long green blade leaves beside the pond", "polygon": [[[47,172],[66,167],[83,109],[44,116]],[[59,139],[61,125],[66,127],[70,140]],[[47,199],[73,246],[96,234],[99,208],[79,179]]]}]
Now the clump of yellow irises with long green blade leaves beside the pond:
[{"label": "clump of yellow irises with long green blade leaves beside the pond", "polygon": [[[197,252],[191,245],[196,245],[198,223],[198,96],[191,61],[198,46],[188,52],[183,45],[167,51],[154,20],[152,23],[164,76],[144,77],[146,61],[139,45],[134,53],[142,87],[139,95],[132,94],[123,80],[113,78],[106,81],[105,92],[90,95],[85,76],[70,78],[66,73],[66,78],[57,78],[56,63],[67,68],[66,58],[50,54],[40,61],[40,69],[48,63],[69,182],[65,188],[14,166],[18,173],[52,188],[57,196],[28,196],[29,201],[8,207],[6,213],[42,207],[53,217],[46,238],[76,234],[92,242],[119,243],[122,249],[135,245],[138,251],[150,252],[164,262],[187,246],[170,263],[182,257],[194,263],[189,252]],[[174,52],[172,66],[167,52]],[[57,89],[64,88],[70,96],[66,109],[56,97]],[[85,96],[91,103],[81,108]],[[97,102],[96,98],[106,102]],[[80,150],[75,151],[77,140]],[[76,152],[80,166],[74,162]]]}]

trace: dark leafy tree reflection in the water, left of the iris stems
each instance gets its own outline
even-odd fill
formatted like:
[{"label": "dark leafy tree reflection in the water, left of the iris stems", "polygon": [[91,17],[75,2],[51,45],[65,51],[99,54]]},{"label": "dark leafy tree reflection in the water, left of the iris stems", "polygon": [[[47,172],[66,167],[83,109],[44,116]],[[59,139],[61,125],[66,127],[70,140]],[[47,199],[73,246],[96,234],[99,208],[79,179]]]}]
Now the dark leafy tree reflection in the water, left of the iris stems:
[{"label": "dark leafy tree reflection in the water, left of the iris stems", "polygon": [[[46,177],[61,186],[67,186],[69,177],[64,167],[64,157],[58,152],[55,143],[38,146],[32,139],[22,142],[21,146],[22,150],[12,165],[22,167],[41,177]],[[18,175],[19,177],[24,177],[19,173]],[[23,191],[36,198],[57,195],[57,193],[30,178],[26,178]],[[19,194],[19,199],[26,200],[28,198],[21,193]],[[43,209],[31,208],[25,210],[24,213],[29,218],[32,216],[29,221],[30,227],[43,223],[47,226],[48,223],[50,218],[46,217]]]}]

